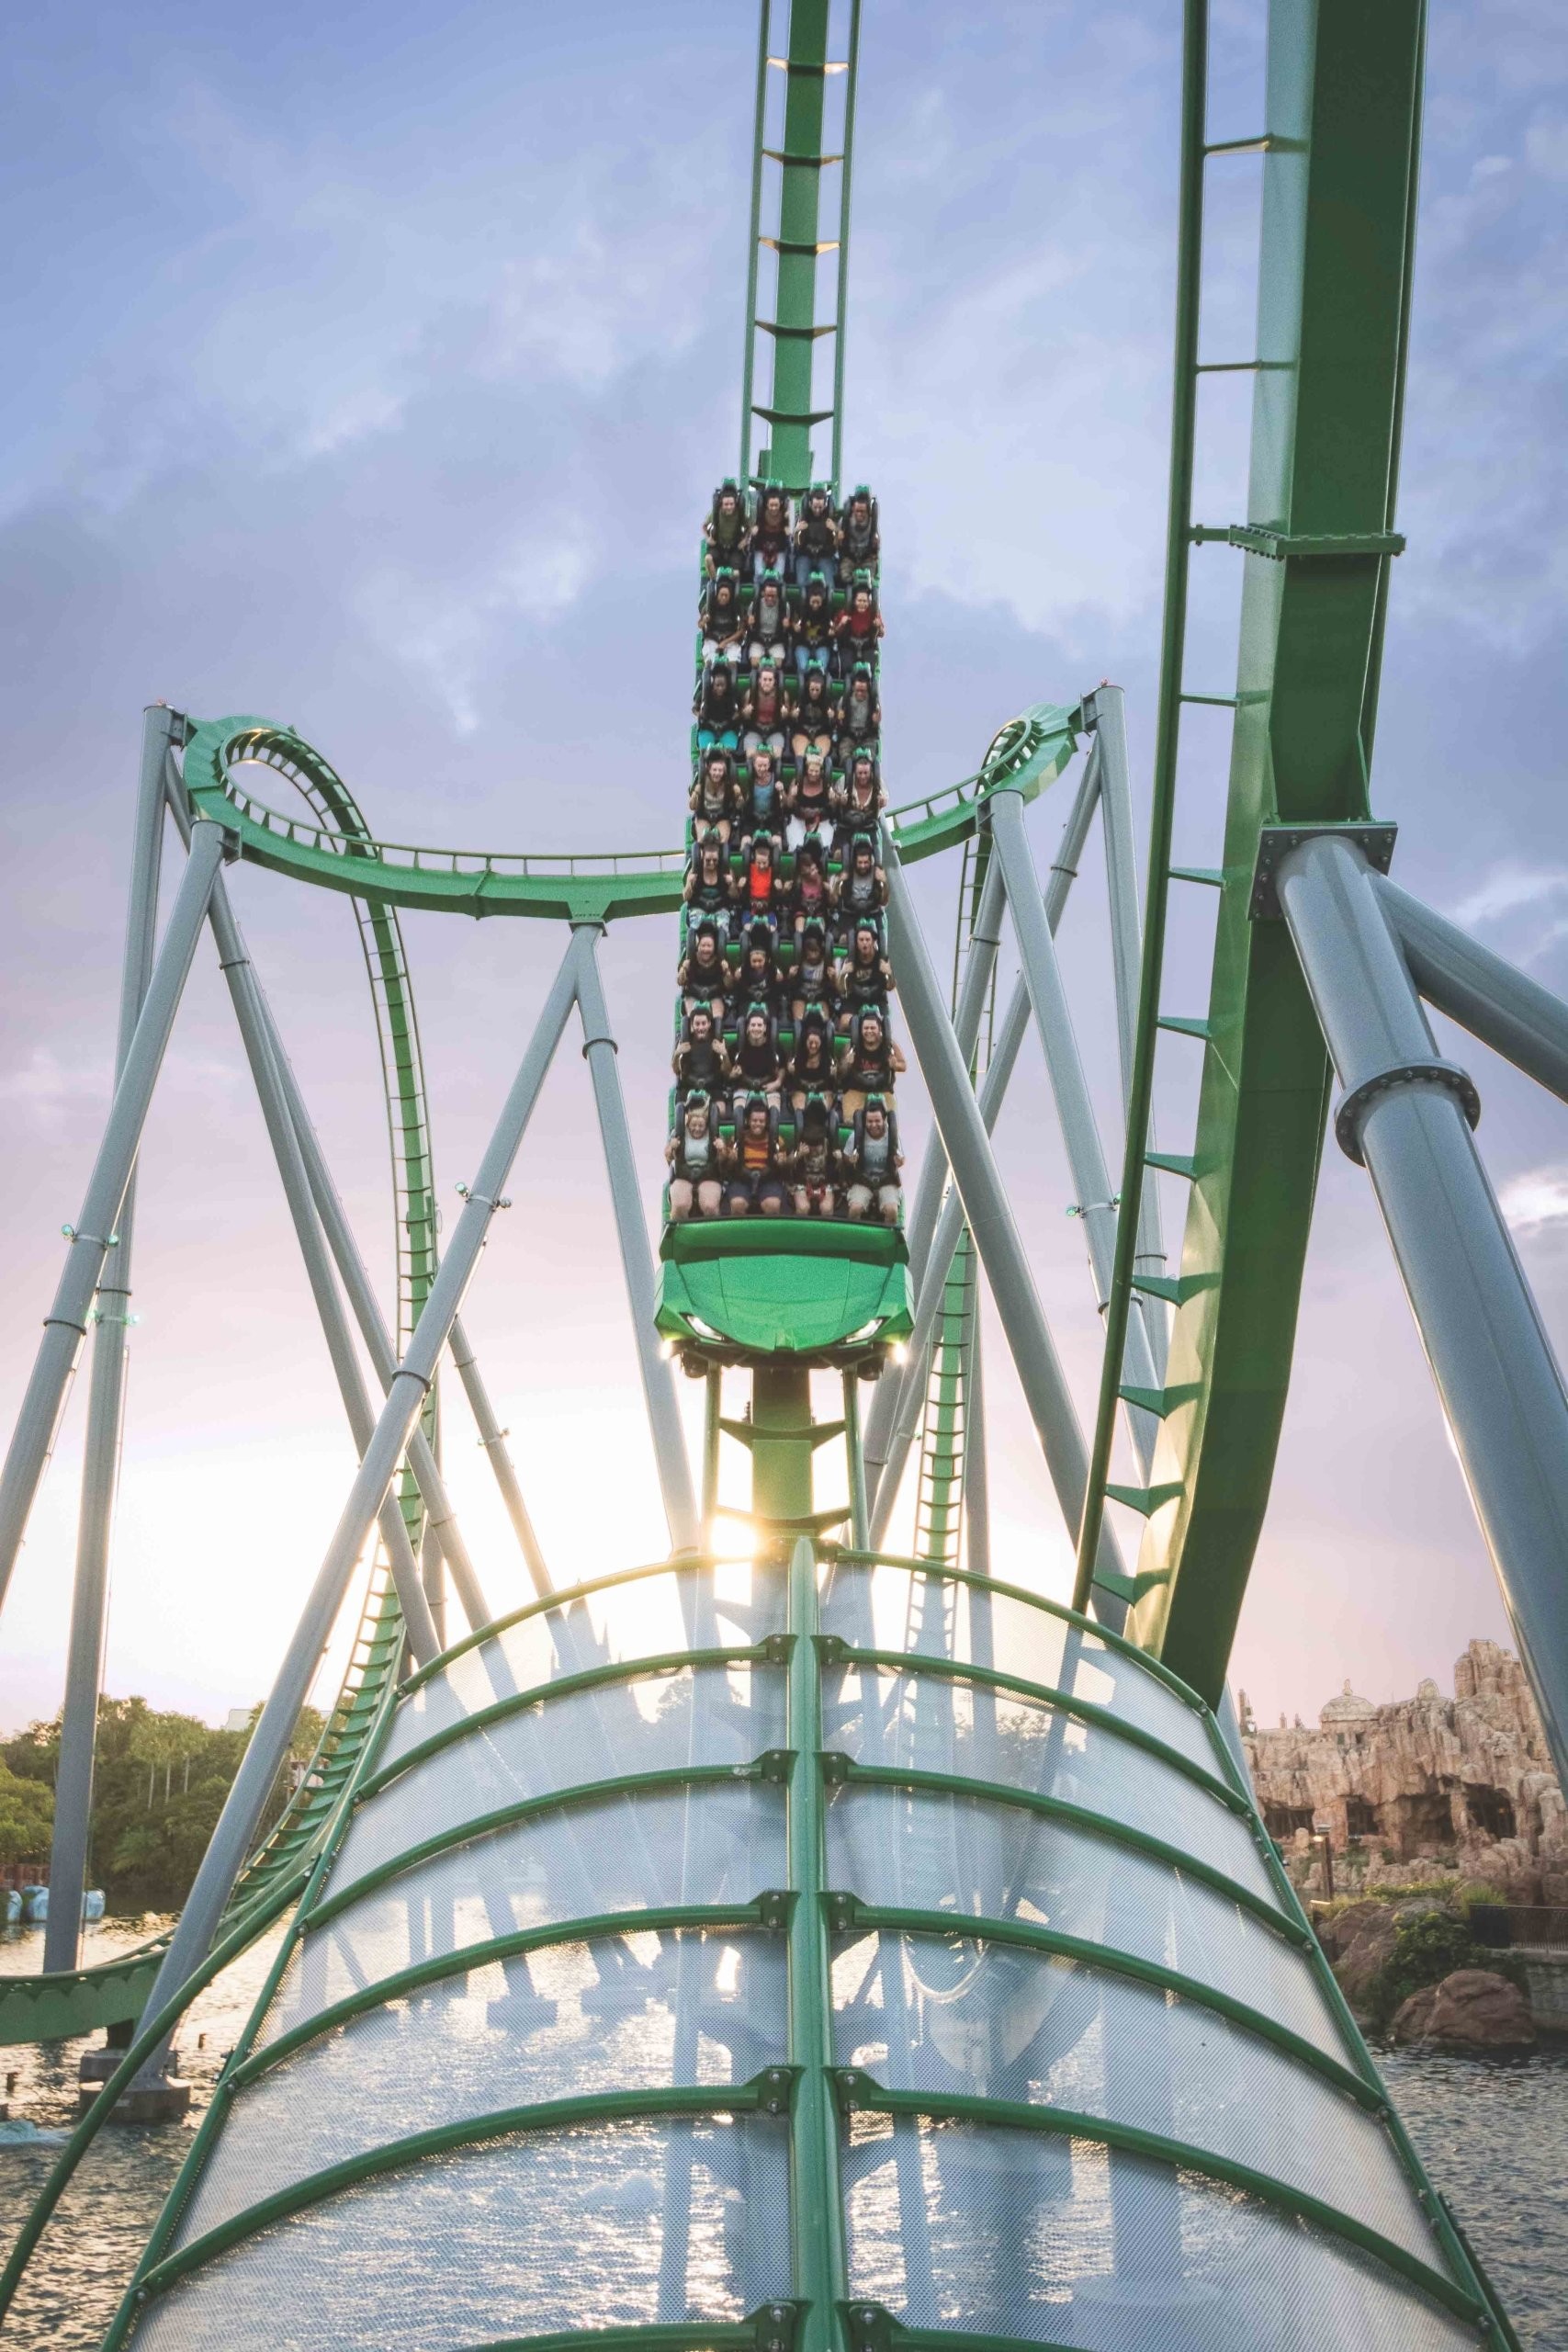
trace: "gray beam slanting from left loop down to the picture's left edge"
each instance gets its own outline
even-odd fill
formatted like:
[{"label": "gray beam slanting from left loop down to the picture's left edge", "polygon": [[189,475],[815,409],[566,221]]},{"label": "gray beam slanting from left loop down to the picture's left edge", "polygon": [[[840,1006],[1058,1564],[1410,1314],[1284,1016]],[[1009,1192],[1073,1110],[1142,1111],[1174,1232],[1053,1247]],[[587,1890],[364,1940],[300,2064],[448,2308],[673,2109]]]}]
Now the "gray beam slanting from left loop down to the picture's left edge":
[{"label": "gray beam slanting from left loop down to the picture's left edge", "polygon": [[190,835],[190,861],[169,913],[158,962],[153,964],[153,978],[148,981],[136,1033],[125,1056],[82,1207],[75,1225],[66,1228],[71,1249],[66,1251],[54,1303],[45,1315],[45,1336],[33,1359],[33,1374],[21,1397],[5,1470],[0,1472],[0,1602],[5,1602],[38,1482],[54,1444],[66,1383],[75,1371],[75,1357],[87,1334],[87,1310],[103,1272],[125,1188],[132,1181],[148,1103],[153,1101],[153,1087],[169,1044],[169,1030],[174,1028],[174,1014],[186,988],[190,957],[195,955],[195,941],[221,858],[223,828],[207,821],[197,823]]}]

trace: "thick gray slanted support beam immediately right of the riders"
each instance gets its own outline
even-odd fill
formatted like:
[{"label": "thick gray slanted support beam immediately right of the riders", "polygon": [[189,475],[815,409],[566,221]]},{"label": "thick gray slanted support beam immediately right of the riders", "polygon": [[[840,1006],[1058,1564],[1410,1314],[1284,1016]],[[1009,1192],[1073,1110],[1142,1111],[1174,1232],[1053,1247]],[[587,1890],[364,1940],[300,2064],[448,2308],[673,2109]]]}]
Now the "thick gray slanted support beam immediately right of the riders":
[{"label": "thick gray slanted support beam immediately right of the riders", "polygon": [[[926,955],[926,943],[910,903],[910,884],[898,863],[898,851],[891,847],[886,851],[886,877],[893,969],[898,971],[898,1000],[910,1044],[931,1094],[931,1112],[943,1138],[943,1150],[947,1152],[947,1164],[952,1167],[957,1195],[964,1204],[964,1218],[985,1265],[1056,1498],[1067,1526],[1077,1529],[1084,1510],[1084,1482],[1088,1477],[1084,1432],[1051,1343],[1001,1176],[997,1174],[985,1117],[969,1084],[969,1065],[959,1054],[959,1042],[952,1035],[952,1023],[947,1021],[947,1009],[931,971],[931,957]],[[933,1277],[936,1254],[926,1272],[929,1282]],[[1103,1529],[1095,1557],[1103,1576],[1124,1573],[1110,1529]]]}]

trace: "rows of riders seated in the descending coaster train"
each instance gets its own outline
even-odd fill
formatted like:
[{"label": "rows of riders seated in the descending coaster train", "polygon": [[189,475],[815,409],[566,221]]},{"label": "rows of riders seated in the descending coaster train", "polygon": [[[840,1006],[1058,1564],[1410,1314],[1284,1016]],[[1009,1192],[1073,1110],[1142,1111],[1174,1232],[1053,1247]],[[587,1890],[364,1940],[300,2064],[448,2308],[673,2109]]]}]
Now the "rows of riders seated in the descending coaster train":
[{"label": "rows of riders seated in the descending coaster train", "polygon": [[898,1221],[877,501],[726,480],[703,527],[670,1216]]}]

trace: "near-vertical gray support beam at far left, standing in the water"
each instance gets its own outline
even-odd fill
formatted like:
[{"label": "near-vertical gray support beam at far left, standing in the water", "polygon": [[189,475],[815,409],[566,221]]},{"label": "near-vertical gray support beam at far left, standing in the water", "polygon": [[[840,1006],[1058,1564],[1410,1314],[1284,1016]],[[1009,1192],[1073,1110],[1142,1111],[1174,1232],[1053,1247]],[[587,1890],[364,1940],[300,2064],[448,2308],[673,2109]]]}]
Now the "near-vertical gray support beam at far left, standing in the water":
[{"label": "near-vertical gray support beam at far left, standing in the water", "polygon": [[[141,715],[141,776],[132,833],[132,896],[125,917],[120,964],[120,1033],[115,1082],[136,1035],[136,1016],[153,976],[158,943],[158,870],[162,863],[162,771],[179,717],[167,703]],[[54,1776],[54,1839],[49,1846],[49,1922],[45,1969],[75,1969],[82,1952],[82,1893],[87,1886],[87,1835],[92,1820],[92,1764],[103,1689],[103,1637],[108,1630],[108,1531],[120,1477],[120,1430],[125,1418],[125,1359],[132,1305],[132,1225],[136,1218],[136,1171],[120,1202],[120,1240],[103,1258],[92,1334],[92,1385],[87,1392],[87,1442],[82,1449],[82,1505],[71,1583],[71,1637],[66,1646],[66,1705],[61,1712],[59,1766]]]}]

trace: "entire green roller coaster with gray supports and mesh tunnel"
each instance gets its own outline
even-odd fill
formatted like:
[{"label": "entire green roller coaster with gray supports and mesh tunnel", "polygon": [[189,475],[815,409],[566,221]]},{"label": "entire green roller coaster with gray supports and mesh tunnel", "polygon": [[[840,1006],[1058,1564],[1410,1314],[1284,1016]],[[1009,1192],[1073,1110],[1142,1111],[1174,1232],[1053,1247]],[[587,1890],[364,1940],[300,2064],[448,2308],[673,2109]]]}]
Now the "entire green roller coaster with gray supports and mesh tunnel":
[{"label": "entire green roller coaster with gray supports and mesh tunnel", "polygon": [[[907,1204],[856,1124],[886,1101],[877,1089],[893,1065],[867,1077],[832,1007],[818,1028],[844,1091],[792,1082],[816,983],[790,889],[816,783],[788,727],[769,736],[776,680],[757,713],[757,673],[773,659],[757,597],[773,555],[748,576],[705,543],[703,595],[733,569],[752,616],[741,663],[757,724],[748,736],[712,710],[703,720],[724,663],[701,644],[698,788],[670,851],[386,842],[292,729],[148,710],[113,1108],[0,1472],[2,1595],[89,1341],[45,1973],[0,1983],[0,2034],[106,2025],[110,2053],[12,2251],[0,2312],[106,2124],[181,2112],[176,2032],[195,1994],[287,1922],[108,2347],[1516,2343],[1262,1828],[1225,1691],[1333,1129],[1373,1178],[1559,1771],[1568,1762],[1568,1397],[1476,1157],[1474,1082],[1439,1054],[1422,1000],[1559,1098],[1568,1009],[1387,877],[1394,828],[1371,802],[1403,548],[1422,31],[1420,0],[1269,0],[1265,122],[1211,141],[1208,14],[1185,0],[1145,880],[1110,684],[1025,710],[950,790],[872,809],[875,948],[891,967],[882,1044],[891,1007],[933,1112]],[[832,510],[849,496],[858,38],[858,0],[762,5],[733,475],[743,529],[759,539],[769,517],[804,515],[813,485]],[[1229,158],[1262,174],[1258,348],[1215,360],[1199,346],[1204,219],[1208,174]],[[1253,376],[1244,522],[1192,513],[1199,395],[1215,372]],[[886,524],[896,534],[898,517]],[[1234,691],[1197,691],[1190,595],[1206,564],[1234,560]],[[856,576],[839,567],[823,583],[830,619]],[[839,661],[837,696],[851,668]],[[865,668],[875,680],[875,647]],[[1190,703],[1232,715],[1206,868],[1173,866]],[[823,793],[849,790],[830,781],[832,762],[846,764],[839,727],[849,720],[823,739]],[[778,779],[757,743],[790,767],[799,823],[759,814]],[[722,826],[701,809],[715,746],[729,762],[717,788],[736,795]],[[1056,786],[1067,809],[1041,882],[1027,811]],[[1117,1174],[1056,953],[1095,823]],[[186,861],[160,929],[169,830]],[[757,880],[748,844],[769,830],[778,866]],[[658,1152],[654,1138],[632,1143],[597,948],[609,924],[646,917],[675,941],[679,917],[689,971],[705,837],[722,849],[726,903],[738,894],[745,908],[712,936],[724,1058],[750,1037],[750,983],[733,971],[752,920],[762,964],[773,960],[764,1058],[745,1087],[708,1096],[656,1256],[644,1171]],[[818,837],[835,906],[858,903],[844,896],[860,870],[853,837],[853,818],[837,849]],[[907,884],[910,866],[938,854],[957,854],[950,985]],[[233,861],[353,906],[393,1148],[390,1312],[228,903]],[[1173,891],[1204,891],[1218,910],[1201,1014],[1166,1002]],[[440,1249],[409,908],[567,934]],[[1020,976],[999,997],[1006,920]],[[80,1966],[136,1148],[205,929],[360,1470],[174,1931]],[[592,1583],[559,1583],[545,1564],[461,1322],[574,1016],[670,1534],[665,1559]],[[1030,1030],[1105,1334],[1091,1428],[992,1152]],[[1157,1058],[1194,1049],[1194,1134],[1157,1148]],[[677,1084],[677,1143],[691,1096]],[[802,1162],[806,1145],[818,1157]],[[719,1169],[724,1185],[703,1197]],[[1161,1228],[1182,1195],[1171,1265]],[[1077,1545],[1072,1595],[992,1573],[980,1275]],[[501,1616],[440,1470],[447,1357],[534,1588]],[[703,1383],[701,1479],[679,1374]],[[724,1444],[750,1456],[752,1477],[750,1519],[729,1531]],[[900,1557],[886,1538],[910,1454],[914,1550]],[[842,1505],[823,1505],[818,1458],[842,1461]],[[367,1552],[336,1708],[259,1837]],[[449,1595],[465,1621],[456,1637]]]}]

